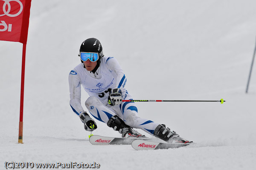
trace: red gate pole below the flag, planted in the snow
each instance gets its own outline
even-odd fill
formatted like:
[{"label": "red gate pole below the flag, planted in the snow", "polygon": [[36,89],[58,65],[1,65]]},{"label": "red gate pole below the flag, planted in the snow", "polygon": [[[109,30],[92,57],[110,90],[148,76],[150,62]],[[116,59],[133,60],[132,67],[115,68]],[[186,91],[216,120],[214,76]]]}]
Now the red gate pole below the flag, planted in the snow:
[{"label": "red gate pole below the flag, planted in the snow", "polygon": [[23,43],[22,66],[21,66],[21,88],[20,88],[20,123],[18,143],[23,144],[23,101],[24,101],[24,79],[25,79],[26,44]]}]

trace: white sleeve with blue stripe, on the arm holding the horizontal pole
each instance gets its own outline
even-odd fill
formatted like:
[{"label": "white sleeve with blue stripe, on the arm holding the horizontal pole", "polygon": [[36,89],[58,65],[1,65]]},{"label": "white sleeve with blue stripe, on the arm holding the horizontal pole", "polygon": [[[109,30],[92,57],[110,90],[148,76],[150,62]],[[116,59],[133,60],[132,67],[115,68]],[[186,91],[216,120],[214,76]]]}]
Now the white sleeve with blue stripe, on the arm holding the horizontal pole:
[{"label": "white sleeve with blue stripe, on the arm holding the horizontal pole", "polygon": [[126,83],[126,77],[120,64],[113,57],[109,57],[106,61],[106,64],[108,70],[111,72],[113,77],[116,78],[116,88],[120,88],[121,90],[123,90]]}]

